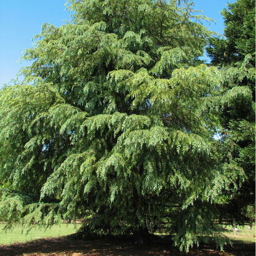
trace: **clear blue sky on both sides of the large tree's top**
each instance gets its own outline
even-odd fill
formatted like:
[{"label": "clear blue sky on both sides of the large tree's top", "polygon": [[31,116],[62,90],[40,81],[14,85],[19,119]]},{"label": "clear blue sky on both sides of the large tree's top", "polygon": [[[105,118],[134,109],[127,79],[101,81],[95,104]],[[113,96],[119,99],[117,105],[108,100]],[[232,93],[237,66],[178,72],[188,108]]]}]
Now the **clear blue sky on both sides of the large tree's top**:
[{"label": "clear blue sky on both sides of the large tree's top", "polygon": [[[17,60],[23,50],[32,47],[31,39],[40,33],[42,24],[61,26],[65,24],[62,20],[70,20],[70,13],[64,11],[65,3],[66,0],[0,0],[0,87],[14,79],[22,66],[29,65],[18,64]],[[194,4],[216,21],[216,25],[209,26],[210,30],[223,34],[220,11],[226,7],[226,1],[194,0]]]}]

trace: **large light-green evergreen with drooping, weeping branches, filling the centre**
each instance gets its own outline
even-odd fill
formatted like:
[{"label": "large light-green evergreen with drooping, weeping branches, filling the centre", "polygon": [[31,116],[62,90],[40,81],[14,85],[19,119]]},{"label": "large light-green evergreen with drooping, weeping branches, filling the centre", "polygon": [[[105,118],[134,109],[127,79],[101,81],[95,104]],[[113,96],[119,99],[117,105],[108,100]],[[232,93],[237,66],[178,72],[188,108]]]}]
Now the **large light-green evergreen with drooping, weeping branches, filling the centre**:
[{"label": "large light-green evergreen with drooping, weeping branches, filling the centre", "polygon": [[[24,81],[0,96],[0,218],[85,218],[102,233],[165,228],[180,249],[215,239],[223,168],[209,111],[211,33],[190,1],[69,1],[73,20],[42,26]],[[236,185],[236,183],[234,183]]]}]

